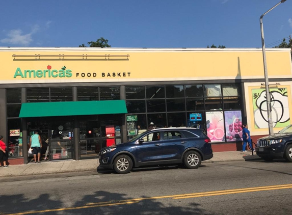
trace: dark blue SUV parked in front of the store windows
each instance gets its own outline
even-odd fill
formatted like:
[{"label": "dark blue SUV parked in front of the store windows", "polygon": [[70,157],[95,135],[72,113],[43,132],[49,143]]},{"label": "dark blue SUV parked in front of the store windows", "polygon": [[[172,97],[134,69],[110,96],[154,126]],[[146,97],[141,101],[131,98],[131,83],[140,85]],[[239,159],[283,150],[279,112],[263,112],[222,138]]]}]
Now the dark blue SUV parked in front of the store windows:
[{"label": "dark blue SUV parked in front of the store windows", "polygon": [[100,167],[128,173],[132,167],[184,164],[196,169],[213,157],[211,141],[202,129],[158,128],[127,143],[102,148]]}]

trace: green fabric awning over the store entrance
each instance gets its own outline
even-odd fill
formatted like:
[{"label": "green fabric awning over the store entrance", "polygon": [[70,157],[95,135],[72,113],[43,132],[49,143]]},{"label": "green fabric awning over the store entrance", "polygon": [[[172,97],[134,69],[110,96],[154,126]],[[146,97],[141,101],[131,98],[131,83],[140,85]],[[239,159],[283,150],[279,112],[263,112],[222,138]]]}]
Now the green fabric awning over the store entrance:
[{"label": "green fabric awning over the store entrance", "polygon": [[22,103],[19,117],[126,114],[125,100]]}]

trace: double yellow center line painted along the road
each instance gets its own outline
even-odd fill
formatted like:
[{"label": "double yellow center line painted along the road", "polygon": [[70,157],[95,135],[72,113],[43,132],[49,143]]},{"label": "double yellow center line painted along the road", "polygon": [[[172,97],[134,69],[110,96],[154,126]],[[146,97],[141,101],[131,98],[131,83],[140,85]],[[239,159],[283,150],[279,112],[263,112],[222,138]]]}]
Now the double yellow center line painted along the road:
[{"label": "double yellow center line painted along the road", "polygon": [[150,200],[150,199],[152,199],[152,200],[153,199],[164,199],[164,198],[185,199],[185,198],[197,198],[197,197],[205,197],[205,196],[218,196],[218,195],[248,193],[248,192],[258,192],[258,191],[271,191],[271,190],[281,190],[281,189],[292,189],[292,184],[282,184],[282,185],[273,185],[273,186],[258,186],[258,187],[249,187],[249,188],[233,189],[233,190],[225,190],[225,191],[211,191],[211,192],[203,192],[203,193],[180,194],[180,195],[171,195],[171,196],[157,196],[157,197],[148,197],[148,198],[96,202],[96,203],[87,203],[86,205],[79,206],[79,207],[66,207],[66,208],[46,209],[46,210],[38,210],[38,211],[25,211],[25,212],[11,213],[10,215],[23,215],[23,214],[62,211],[62,210],[75,210],[75,209],[83,209],[83,208],[91,208],[91,207],[133,204],[133,203],[138,203],[139,201],[142,201],[142,200]]}]

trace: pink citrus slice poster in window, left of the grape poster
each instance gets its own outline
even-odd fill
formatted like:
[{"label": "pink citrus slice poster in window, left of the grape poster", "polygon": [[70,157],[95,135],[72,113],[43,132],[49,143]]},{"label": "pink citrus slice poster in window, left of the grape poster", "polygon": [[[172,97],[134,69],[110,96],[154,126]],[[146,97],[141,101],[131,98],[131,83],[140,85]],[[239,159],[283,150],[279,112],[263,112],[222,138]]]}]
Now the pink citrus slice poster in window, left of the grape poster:
[{"label": "pink citrus slice poster in window, left of the grape poster", "polygon": [[206,112],[207,136],[211,142],[225,141],[224,118],[222,111]]}]

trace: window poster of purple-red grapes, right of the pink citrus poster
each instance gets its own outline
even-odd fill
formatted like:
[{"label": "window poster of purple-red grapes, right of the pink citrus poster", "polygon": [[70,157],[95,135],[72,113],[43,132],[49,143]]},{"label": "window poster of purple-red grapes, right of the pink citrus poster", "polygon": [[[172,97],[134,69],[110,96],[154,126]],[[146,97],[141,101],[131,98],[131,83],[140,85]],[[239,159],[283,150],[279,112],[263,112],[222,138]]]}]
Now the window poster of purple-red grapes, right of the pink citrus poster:
[{"label": "window poster of purple-red grapes, right of the pink citrus poster", "polygon": [[238,141],[242,140],[242,112],[241,111],[225,111],[226,140]]}]

